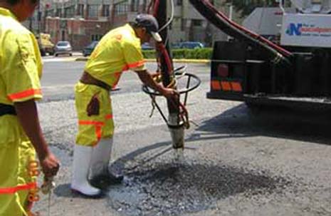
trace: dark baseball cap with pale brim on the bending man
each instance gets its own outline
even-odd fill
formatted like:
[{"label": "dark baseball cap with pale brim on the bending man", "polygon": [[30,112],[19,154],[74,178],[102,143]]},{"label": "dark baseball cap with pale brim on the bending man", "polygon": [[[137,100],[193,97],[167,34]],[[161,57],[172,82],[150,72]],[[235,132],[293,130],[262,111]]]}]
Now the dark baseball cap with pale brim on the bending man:
[{"label": "dark baseball cap with pale brim on the bending man", "polygon": [[135,23],[146,28],[147,32],[152,35],[155,41],[161,42],[162,38],[159,36],[159,24],[154,16],[149,14],[138,14],[135,18]]}]

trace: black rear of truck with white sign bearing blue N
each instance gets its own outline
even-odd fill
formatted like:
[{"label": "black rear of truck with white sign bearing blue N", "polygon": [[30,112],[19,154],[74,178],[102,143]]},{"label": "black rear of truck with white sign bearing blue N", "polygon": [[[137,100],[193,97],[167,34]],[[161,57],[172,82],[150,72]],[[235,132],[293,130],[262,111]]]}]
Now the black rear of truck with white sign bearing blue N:
[{"label": "black rear of truck with white sign bearing blue N", "polygon": [[189,1],[233,38],[214,43],[207,98],[243,101],[252,108],[330,108],[330,0],[280,0],[277,9],[254,11],[246,28],[208,1]]}]

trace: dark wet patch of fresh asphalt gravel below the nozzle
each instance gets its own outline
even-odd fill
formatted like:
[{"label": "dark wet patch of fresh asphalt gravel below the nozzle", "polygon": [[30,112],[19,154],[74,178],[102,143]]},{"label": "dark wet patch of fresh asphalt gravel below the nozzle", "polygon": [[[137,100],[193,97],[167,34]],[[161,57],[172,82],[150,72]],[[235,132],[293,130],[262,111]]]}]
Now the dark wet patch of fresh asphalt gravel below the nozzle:
[{"label": "dark wet patch of fresh asphalt gravel below the nozzle", "polygon": [[282,192],[291,182],[259,170],[199,163],[154,163],[127,170],[111,186],[110,207],[122,215],[180,215],[214,207],[217,200]]}]

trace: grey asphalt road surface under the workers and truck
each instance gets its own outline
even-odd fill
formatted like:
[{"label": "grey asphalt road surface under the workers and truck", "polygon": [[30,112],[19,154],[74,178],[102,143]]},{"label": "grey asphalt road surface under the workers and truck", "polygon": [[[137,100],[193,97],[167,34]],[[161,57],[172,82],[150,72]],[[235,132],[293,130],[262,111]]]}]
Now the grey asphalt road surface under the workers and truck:
[{"label": "grey asphalt road surface under the workers and truck", "polygon": [[[83,62],[46,61],[38,103],[46,139],[61,159],[51,215],[331,215],[330,115],[291,110],[252,113],[243,103],[206,99],[209,66],[189,64],[201,86],[187,108],[183,158],[135,73],[112,92],[112,168],[125,181],[102,199],[71,194],[70,165],[77,131],[73,85]],[[148,68],[155,70],[155,64]],[[160,106],[165,101],[158,98]],[[180,154],[179,154],[180,155]],[[47,197],[34,210],[47,215]]]}]

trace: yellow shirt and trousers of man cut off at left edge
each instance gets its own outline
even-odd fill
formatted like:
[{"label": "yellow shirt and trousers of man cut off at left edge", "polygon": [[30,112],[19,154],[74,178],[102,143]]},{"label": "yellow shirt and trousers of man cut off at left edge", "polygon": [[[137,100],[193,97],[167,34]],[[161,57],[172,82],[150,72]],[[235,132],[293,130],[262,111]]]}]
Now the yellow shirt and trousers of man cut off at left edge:
[{"label": "yellow shirt and trousers of man cut off at left edge", "polygon": [[[41,99],[41,55],[36,38],[8,9],[0,7],[0,103]],[[29,175],[35,150],[16,115],[0,116],[0,215],[27,215]]]}]

